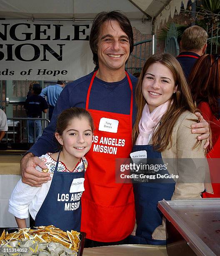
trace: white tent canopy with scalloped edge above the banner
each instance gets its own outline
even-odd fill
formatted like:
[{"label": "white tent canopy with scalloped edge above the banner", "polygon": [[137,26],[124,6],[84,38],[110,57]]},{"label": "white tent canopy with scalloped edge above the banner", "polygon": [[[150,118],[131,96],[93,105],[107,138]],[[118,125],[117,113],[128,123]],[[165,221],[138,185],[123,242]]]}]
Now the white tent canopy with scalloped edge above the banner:
[{"label": "white tent canopy with scalloped edge above the banner", "polygon": [[186,8],[188,0],[0,0],[0,18],[92,20],[102,11],[122,10],[130,20],[159,26],[180,12],[182,2]]}]

